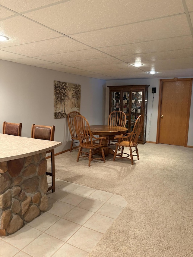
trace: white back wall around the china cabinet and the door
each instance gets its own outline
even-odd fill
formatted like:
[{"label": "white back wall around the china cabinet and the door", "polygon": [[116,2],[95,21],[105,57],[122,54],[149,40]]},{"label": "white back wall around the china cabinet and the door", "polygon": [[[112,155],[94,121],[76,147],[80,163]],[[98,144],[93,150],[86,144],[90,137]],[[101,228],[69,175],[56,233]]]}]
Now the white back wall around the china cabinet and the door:
[{"label": "white back wall around the china cabinet and the door", "polygon": [[[122,85],[150,85],[148,88],[148,102],[147,102],[147,128],[146,140],[156,142],[157,135],[157,116],[158,116],[158,102],[159,102],[159,89],[160,79],[131,79],[131,80],[108,80],[106,81],[106,108],[105,108],[105,122],[107,124],[109,115],[109,88],[107,86],[122,86]],[[156,87],[156,93],[151,92],[152,87]],[[153,101],[153,109],[152,109]],[[152,110],[152,115],[151,115]],[[151,118],[151,124],[150,124]],[[191,111],[190,122],[188,131],[188,146],[193,146],[193,91],[191,97]],[[148,137],[149,134],[149,137]]]}]

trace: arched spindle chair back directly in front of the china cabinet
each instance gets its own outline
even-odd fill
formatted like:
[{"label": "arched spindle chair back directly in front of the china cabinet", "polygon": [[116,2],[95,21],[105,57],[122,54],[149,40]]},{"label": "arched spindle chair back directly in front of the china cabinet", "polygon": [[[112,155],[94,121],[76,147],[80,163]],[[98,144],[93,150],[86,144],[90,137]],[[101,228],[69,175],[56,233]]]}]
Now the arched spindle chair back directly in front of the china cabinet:
[{"label": "arched spindle chair back directly in front of the china cabinet", "polygon": [[108,125],[125,127],[126,125],[126,115],[123,111],[112,111],[109,114]]}]

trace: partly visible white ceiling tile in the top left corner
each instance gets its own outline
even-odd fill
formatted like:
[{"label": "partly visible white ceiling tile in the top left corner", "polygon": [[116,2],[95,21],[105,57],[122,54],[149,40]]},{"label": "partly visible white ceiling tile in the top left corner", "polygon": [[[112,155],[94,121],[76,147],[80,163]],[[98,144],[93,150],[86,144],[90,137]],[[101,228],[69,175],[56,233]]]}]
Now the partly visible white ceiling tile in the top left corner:
[{"label": "partly visible white ceiling tile in the top left corner", "polygon": [[[24,0],[1,0],[1,5],[16,11],[16,12],[23,12],[23,11],[27,11],[27,10],[33,10],[35,8],[44,6],[44,5],[49,5],[49,4],[53,4],[55,2],[60,2],[62,0],[28,0],[28,1],[24,1]],[[67,0],[69,1],[69,0]]]}]

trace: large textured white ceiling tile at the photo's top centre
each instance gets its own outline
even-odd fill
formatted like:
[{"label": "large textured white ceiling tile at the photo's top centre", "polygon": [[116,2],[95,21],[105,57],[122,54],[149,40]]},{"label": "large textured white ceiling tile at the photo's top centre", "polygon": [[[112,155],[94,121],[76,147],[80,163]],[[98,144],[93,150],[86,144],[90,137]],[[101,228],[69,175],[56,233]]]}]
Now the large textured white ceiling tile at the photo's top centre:
[{"label": "large textured white ceiling tile at the photo's top centre", "polygon": [[24,15],[64,34],[73,34],[183,12],[181,0],[141,0],[140,4],[136,0],[72,0]]}]

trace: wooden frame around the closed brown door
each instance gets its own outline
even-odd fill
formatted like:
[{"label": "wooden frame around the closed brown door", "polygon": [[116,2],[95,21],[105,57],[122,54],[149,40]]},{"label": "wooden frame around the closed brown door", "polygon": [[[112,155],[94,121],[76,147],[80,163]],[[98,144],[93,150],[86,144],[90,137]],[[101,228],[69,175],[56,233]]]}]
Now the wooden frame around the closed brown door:
[{"label": "wooden frame around the closed brown door", "polygon": [[[161,79],[160,80],[156,144],[159,144],[159,138],[160,138],[160,119],[161,119],[161,103],[162,103],[163,82],[165,82],[165,81],[192,81],[192,80],[193,80],[193,78],[184,78],[184,79],[174,78],[174,79]],[[185,142],[184,142],[185,147],[187,147],[187,145],[188,145],[188,128],[189,128],[189,120],[190,120],[191,92],[192,92],[192,83],[190,85],[190,91],[189,91],[189,97],[188,97],[188,114],[187,114]]]}]

